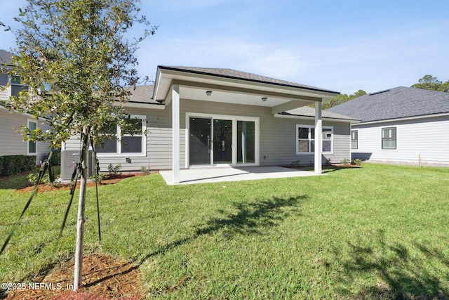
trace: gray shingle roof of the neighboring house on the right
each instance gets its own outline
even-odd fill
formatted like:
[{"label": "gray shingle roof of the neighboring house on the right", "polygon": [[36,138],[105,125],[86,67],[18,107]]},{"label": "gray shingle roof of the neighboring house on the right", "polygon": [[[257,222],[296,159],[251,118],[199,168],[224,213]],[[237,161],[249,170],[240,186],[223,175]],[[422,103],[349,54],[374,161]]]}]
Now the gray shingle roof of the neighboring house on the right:
[{"label": "gray shingle roof of the neighboring house on the right", "polygon": [[362,122],[435,115],[449,112],[449,93],[398,86],[360,96],[328,111]]}]

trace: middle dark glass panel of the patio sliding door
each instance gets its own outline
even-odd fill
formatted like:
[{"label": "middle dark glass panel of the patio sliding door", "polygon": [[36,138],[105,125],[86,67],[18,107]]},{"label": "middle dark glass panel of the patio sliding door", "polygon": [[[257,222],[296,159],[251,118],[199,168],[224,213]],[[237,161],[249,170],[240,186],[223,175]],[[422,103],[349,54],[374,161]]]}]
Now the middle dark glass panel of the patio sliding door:
[{"label": "middle dark glass panel of the patio sliding door", "polygon": [[232,164],[232,120],[213,120],[213,164]]}]

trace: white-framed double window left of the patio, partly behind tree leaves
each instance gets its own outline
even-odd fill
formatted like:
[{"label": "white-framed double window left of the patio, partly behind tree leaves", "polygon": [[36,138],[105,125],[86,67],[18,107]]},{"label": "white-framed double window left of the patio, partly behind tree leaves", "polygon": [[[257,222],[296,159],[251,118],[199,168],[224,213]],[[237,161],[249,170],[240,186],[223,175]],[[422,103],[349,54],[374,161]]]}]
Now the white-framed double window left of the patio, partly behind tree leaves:
[{"label": "white-framed double window left of the patio, partly behind tree leaves", "polygon": [[147,122],[145,116],[130,115],[124,120],[125,128],[119,125],[107,126],[103,133],[108,137],[95,148],[101,155],[145,155],[145,131]]}]

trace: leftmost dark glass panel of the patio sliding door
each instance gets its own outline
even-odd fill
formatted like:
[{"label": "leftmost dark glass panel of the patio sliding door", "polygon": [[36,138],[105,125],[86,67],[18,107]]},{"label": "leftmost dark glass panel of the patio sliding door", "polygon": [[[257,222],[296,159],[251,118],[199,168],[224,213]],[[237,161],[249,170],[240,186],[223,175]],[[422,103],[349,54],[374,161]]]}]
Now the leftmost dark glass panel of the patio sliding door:
[{"label": "leftmost dark glass panel of the patio sliding door", "polygon": [[210,164],[211,119],[189,119],[189,161],[190,164]]}]

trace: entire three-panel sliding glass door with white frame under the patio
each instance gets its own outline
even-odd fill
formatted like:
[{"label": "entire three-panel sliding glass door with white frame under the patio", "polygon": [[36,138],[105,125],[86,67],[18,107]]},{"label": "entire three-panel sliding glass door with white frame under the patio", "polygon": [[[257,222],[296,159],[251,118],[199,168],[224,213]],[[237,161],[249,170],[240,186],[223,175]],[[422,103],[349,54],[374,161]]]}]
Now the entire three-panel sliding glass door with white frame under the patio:
[{"label": "entire three-panel sliding glass door with white frame under the patio", "polygon": [[189,117],[189,165],[255,164],[255,129],[252,120]]}]

